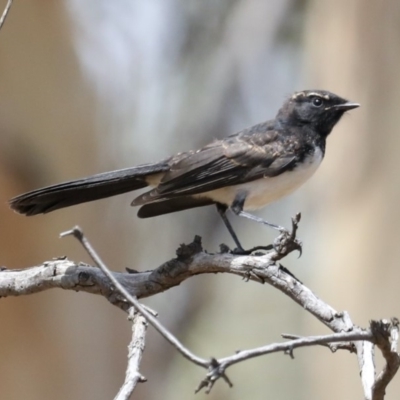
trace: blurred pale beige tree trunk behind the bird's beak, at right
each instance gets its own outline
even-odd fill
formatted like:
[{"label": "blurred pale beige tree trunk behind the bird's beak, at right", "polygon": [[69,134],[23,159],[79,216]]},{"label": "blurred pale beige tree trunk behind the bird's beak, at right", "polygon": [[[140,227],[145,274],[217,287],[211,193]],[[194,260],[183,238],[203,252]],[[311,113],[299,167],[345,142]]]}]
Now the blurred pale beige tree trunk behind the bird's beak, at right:
[{"label": "blurred pale beige tree trunk behind the bird's beak, at right", "polygon": [[[309,86],[362,105],[330,138],[314,180],[312,286],[366,325],[400,315],[400,3],[311,1],[306,27]],[[327,353],[309,369],[309,398],[361,397],[351,356]],[[387,398],[399,391],[396,377]]]}]

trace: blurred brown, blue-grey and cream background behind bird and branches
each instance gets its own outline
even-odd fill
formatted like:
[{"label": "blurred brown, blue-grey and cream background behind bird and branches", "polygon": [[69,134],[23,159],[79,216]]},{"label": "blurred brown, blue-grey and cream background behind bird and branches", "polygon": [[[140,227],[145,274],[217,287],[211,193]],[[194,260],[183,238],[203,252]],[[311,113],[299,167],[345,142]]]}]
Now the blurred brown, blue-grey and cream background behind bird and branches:
[{"label": "blurred brown, blue-grey and cream background behind bird and branches", "polygon": [[[1,1],[1,9],[6,1]],[[40,186],[156,161],[272,118],[295,90],[328,89],[362,107],[329,137],[297,193],[259,212],[289,226],[302,211],[304,255],[284,261],[353,321],[400,316],[400,3],[396,0],[16,1],[0,32],[0,264],[67,255],[79,224],[107,264],[152,269],[201,235],[231,239],[213,207],[139,220],[135,194],[25,218],[7,200]],[[245,246],[274,232],[233,221]],[[274,288],[199,276],[146,299],[202,357],[327,329]],[[0,301],[2,399],[111,399],[130,324],[101,297],[48,291]],[[357,360],[325,348],[250,360],[208,399],[361,398]],[[151,328],[134,398],[205,398],[204,371]],[[400,378],[387,398],[400,390]]]}]

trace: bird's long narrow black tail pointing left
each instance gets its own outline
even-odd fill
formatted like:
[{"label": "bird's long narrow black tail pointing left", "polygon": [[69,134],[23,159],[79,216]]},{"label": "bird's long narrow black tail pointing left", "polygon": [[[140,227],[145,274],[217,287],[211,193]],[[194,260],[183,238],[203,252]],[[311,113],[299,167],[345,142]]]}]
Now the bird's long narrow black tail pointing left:
[{"label": "bird's long narrow black tail pointing left", "polygon": [[37,189],[10,200],[13,210],[36,215],[148,186],[146,177],[168,171],[168,160],[105,172]]}]

